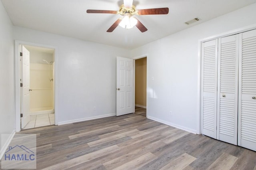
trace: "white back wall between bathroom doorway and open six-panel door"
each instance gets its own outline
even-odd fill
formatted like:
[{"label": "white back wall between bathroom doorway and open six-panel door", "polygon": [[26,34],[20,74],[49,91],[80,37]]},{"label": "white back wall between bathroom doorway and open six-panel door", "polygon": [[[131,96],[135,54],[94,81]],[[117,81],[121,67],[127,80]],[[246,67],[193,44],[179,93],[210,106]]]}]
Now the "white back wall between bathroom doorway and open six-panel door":
[{"label": "white back wall between bathroom doorway and open six-panel door", "polygon": [[20,27],[14,39],[57,47],[60,124],[116,113],[116,57],[130,57],[129,50]]}]

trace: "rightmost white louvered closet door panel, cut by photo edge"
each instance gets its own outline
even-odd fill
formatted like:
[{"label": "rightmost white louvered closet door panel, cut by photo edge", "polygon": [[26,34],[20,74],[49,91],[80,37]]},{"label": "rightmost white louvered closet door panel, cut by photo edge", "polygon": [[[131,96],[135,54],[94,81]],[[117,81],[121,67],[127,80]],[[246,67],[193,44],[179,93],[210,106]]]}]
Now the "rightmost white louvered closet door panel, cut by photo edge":
[{"label": "rightmost white louvered closet door panel, cut by photo edge", "polygon": [[256,30],[240,34],[238,145],[256,150]]}]

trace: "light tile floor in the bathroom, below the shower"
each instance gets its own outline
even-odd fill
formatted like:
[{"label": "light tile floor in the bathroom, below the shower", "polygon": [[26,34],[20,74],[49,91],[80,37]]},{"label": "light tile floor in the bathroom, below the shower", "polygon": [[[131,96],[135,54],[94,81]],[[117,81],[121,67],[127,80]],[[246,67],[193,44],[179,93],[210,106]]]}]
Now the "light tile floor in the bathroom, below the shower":
[{"label": "light tile floor in the bathroom, below the shower", "polygon": [[32,115],[30,121],[23,129],[54,125],[54,113]]}]

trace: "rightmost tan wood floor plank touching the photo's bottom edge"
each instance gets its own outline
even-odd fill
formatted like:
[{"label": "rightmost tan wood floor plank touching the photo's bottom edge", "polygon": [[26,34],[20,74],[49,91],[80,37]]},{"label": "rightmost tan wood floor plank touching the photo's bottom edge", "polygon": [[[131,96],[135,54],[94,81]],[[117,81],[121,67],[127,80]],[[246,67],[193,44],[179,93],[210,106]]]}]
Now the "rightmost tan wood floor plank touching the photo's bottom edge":
[{"label": "rightmost tan wood floor plank touching the photo's bottom edge", "polygon": [[236,160],[238,160],[237,157],[223,153],[207,168],[207,170],[229,170]]}]

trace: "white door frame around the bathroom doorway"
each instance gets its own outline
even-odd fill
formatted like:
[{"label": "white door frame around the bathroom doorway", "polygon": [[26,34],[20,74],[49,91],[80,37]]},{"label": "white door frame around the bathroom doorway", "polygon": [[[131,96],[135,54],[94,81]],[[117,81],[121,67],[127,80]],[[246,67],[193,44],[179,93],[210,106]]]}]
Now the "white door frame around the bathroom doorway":
[{"label": "white door frame around the bathroom doorway", "polygon": [[44,47],[44,48],[52,48],[54,49],[54,116],[55,122],[54,125],[58,125],[58,101],[57,101],[57,94],[58,94],[58,51],[57,47],[51,45],[44,45],[32,42],[24,42],[15,40],[15,58],[14,58],[14,67],[15,67],[15,128],[16,132],[19,132],[20,129],[20,45],[31,45],[37,47]]}]

